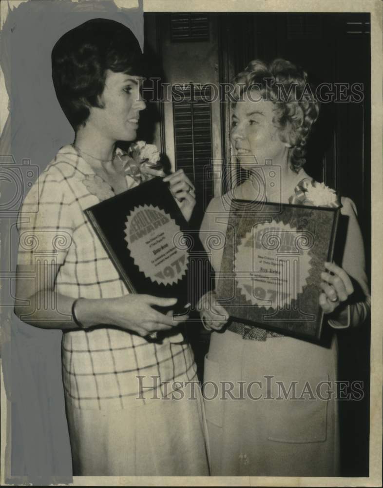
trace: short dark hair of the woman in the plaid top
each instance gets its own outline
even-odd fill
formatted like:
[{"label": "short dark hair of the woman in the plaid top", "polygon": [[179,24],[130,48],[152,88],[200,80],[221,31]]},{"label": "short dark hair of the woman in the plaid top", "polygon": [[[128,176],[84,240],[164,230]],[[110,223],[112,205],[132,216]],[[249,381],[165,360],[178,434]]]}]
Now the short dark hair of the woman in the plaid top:
[{"label": "short dark hair of the woman in the plaid top", "polygon": [[52,50],[52,79],[58,102],[77,130],[89,107],[100,107],[106,70],[143,75],[143,55],[128,27],[109,19],[92,19],[64,34]]}]

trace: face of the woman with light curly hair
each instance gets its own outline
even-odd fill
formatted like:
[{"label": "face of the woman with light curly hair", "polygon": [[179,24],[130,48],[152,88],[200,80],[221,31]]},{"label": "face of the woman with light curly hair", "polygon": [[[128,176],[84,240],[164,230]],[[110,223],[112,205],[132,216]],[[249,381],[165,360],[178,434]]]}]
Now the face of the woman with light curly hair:
[{"label": "face of the woman with light curly hair", "polygon": [[272,160],[273,164],[287,161],[287,147],[272,123],[273,108],[273,102],[262,100],[258,90],[245,92],[243,100],[235,105],[230,139],[244,169],[264,165],[265,160]]}]

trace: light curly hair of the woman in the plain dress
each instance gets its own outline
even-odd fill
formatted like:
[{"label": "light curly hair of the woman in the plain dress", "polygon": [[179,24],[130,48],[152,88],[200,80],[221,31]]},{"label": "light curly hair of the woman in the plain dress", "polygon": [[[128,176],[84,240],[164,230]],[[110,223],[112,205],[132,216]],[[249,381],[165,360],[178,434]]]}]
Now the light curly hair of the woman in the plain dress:
[{"label": "light curly hair of the woman in the plain dress", "polygon": [[284,59],[269,65],[254,60],[234,78],[234,84],[236,102],[244,92],[257,89],[264,100],[274,103],[273,124],[280,140],[291,146],[289,162],[298,173],[306,163],[306,142],[319,115],[319,102],[308,84],[307,73]]}]

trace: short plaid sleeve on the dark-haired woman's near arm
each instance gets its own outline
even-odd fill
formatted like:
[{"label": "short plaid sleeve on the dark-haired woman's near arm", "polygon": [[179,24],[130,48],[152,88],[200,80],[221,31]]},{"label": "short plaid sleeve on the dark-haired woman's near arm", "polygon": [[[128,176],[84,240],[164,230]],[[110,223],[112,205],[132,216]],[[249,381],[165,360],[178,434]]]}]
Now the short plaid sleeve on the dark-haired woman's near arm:
[{"label": "short plaid sleeve on the dark-haired woman's near arm", "polygon": [[43,173],[25,197],[17,222],[18,265],[63,264],[73,235],[65,183]]}]

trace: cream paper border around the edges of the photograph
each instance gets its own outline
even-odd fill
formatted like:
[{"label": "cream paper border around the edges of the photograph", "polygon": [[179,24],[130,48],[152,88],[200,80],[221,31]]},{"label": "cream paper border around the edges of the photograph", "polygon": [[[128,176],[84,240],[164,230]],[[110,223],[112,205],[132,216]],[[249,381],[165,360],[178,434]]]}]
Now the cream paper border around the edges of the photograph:
[{"label": "cream paper border around the edges of the photograph", "polygon": [[[30,0],[29,0],[30,1]],[[56,1],[56,0],[52,0]],[[6,2],[4,2],[6,3]],[[17,5],[19,2],[12,2]],[[124,7],[138,6],[139,1],[115,0]],[[5,9],[4,9],[5,10]],[[144,0],[145,12],[366,12],[371,14],[371,349],[370,349],[370,436],[369,476],[344,477],[73,477],[72,486],[305,486],[305,487],[379,487],[382,485],[382,343],[383,327],[383,157],[382,157],[382,18],[380,0]],[[1,20],[2,24],[5,19]],[[0,110],[7,106],[4,83],[0,84]],[[6,112],[5,112],[6,114]],[[2,238],[4,239],[4,237]],[[1,324],[3,325],[3,324]],[[1,339],[4,341],[4,327]],[[2,358],[2,361],[4,358]],[[1,485],[9,475],[6,458],[6,433],[9,416],[8,399],[1,371]]]}]

